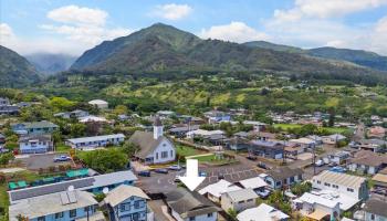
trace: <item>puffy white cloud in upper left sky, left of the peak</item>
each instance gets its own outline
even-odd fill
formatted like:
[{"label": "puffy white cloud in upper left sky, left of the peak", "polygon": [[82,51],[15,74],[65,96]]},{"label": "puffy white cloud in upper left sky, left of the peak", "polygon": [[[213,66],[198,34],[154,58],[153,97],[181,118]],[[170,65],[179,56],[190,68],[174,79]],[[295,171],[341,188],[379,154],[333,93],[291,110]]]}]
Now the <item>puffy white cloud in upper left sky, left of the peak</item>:
[{"label": "puffy white cloud in upper left sky, left of the peak", "polygon": [[70,24],[104,25],[107,12],[100,9],[66,6],[50,11],[46,17],[53,21]]}]

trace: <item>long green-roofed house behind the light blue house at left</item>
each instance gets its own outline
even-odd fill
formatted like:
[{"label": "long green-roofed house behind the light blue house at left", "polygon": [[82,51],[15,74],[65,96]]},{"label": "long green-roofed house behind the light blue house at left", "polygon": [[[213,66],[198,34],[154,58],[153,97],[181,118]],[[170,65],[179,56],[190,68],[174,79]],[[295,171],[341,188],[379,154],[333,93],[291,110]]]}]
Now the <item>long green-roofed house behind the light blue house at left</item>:
[{"label": "long green-roofed house behind the light blue house at left", "polygon": [[21,135],[41,135],[41,134],[51,134],[59,129],[59,126],[46,120],[42,122],[31,122],[31,123],[19,123],[12,124],[11,128],[14,133]]}]

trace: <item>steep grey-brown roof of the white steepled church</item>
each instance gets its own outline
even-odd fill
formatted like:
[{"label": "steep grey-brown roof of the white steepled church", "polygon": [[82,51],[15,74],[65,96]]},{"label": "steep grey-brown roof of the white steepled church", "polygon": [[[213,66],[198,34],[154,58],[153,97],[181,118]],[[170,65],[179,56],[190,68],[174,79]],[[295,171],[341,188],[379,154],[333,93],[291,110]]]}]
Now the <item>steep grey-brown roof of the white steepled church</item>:
[{"label": "steep grey-brown roof of the white steepled church", "polygon": [[129,143],[139,146],[140,150],[136,152],[136,156],[143,159],[151,154],[163,140],[168,139],[164,136],[154,139],[153,133],[139,130],[136,130],[135,134],[129,138]]}]

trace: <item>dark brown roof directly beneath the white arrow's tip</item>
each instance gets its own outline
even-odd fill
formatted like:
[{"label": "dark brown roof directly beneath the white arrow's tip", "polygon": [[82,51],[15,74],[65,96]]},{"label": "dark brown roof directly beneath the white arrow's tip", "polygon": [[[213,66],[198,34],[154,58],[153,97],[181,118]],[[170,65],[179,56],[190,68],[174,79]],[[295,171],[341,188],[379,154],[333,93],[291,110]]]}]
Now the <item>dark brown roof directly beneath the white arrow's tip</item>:
[{"label": "dark brown roof directly beneath the white arrow's tip", "polygon": [[182,219],[221,211],[209,199],[184,188],[166,193],[167,204]]}]

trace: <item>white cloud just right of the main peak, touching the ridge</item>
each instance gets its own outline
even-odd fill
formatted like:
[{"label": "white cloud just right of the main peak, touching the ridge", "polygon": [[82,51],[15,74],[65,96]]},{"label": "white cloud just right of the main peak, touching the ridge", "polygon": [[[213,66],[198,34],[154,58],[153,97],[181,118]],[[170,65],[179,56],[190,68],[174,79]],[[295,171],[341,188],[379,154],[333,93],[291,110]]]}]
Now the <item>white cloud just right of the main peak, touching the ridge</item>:
[{"label": "white cloud just right of the main peak, touching the ridge", "polygon": [[201,30],[199,34],[202,39],[219,39],[231,42],[248,42],[257,40],[268,40],[269,36],[243,22],[233,21],[230,24],[216,25]]}]

